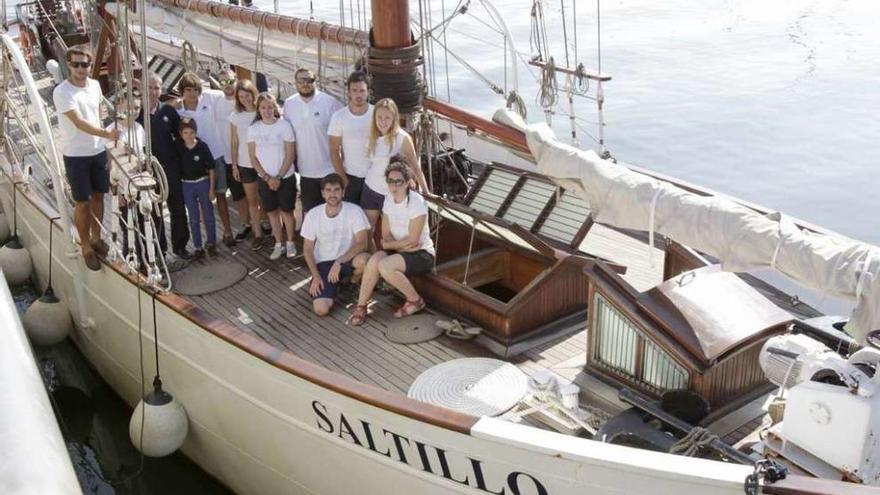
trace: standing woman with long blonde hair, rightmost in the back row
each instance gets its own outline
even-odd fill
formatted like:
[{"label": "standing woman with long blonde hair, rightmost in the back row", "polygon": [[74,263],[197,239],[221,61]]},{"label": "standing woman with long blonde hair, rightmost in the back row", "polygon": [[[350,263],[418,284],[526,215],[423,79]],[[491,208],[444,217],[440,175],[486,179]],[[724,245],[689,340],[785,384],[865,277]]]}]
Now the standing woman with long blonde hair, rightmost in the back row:
[{"label": "standing woman with long blonde hair, rightmost in the back row", "polygon": [[[373,123],[367,139],[367,154],[370,157],[370,168],[364,180],[364,191],[361,193],[361,208],[367,213],[370,228],[376,229],[376,222],[388,195],[385,184],[385,169],[389,159],[397,154],[403,156],[410,166],[411,177],[417,181],[421,190],[428,190],[428,183],[422,174],[412,138],[400,128],[400,112],[391,98],[383,98],[373,107]],[[372,236],[370,236],[372,239]]]}]

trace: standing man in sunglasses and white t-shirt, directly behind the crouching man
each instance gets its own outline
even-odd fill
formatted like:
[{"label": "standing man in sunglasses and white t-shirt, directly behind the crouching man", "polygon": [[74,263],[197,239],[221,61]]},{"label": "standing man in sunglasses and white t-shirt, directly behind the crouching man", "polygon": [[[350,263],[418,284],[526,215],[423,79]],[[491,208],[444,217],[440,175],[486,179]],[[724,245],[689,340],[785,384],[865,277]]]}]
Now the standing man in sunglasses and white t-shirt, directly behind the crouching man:
[{"label": "standing man in sunglasses and white t-shirt, directly behind the crouching man", "polygon": [[299,69],[293,77],[297,94],[284,101],[284,119],[290,122],[296,135],[296,169],[305,215],[321,204],[321,179],[333,173],[327,128],[330,117],[342,104],[315,89],[315,74],[309,69]]}]

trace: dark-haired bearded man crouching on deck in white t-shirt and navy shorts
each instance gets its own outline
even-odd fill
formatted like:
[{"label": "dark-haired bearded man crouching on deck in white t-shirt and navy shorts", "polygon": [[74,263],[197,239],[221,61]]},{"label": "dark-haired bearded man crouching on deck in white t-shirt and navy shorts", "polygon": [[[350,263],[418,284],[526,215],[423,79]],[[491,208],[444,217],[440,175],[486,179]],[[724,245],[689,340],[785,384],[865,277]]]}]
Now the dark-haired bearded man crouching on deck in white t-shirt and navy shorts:
[{"label": "dark-haired bearded man crouching on deck in white t-shirt and navy shorts", "polygon": [[359,278],[370,258],[370,222],[360,206],[343,201],[342,195],[342,178],[327,175],[321,179],[324,204],[309,210],[303,220],[303,254],[312,273],[309,294],[318,316],[330,313],[339,282]]}]

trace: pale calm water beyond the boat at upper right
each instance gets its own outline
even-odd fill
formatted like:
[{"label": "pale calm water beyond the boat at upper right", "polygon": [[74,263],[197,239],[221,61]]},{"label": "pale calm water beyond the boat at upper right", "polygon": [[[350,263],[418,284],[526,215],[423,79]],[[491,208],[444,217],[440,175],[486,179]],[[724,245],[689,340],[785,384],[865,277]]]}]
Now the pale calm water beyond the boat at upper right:
[{"label": "pale calm water beyond the boat at upper right", "polygon": [[[433,24],[454,0],[431,0]],[[271,1],[257,3],[271,10]],[[343,2],[346,5],[357,2]],[[369,3],[369,2],[367,2]],[[338,2],[281,0],[284,13],[339,22]],[[531,0],[495,1],[528,59]],[[556,60],[564,58],[559,1],[545,2]],[[566,0],[571,29],[571,0]],[[616,0],[601,2],[606,141],[619,159],[880,244],[880,2],[876,0]],[[578,60],[596,68],[596,2],[577,3]],[[418,3],[411,14],[418,18]],[[447,45],[499,86],[502,37],[480,23],[478,0],[455,18]],[[357,10],[352,23],[357,26]],[[443,61],[439,46],[435,58]],[[508,68],[508,73],[510,69]],[[531,68],[518,66],[529,119]],[[490,115],[501,98],[450,59],[454,103]],[[445,97],[441,64],[437,94]],[[565,108],[567,109],[567,104]],[[595,104],[578,99],[581,145],[593,144]],[[566,115],[553,119],[569,132]]]}]

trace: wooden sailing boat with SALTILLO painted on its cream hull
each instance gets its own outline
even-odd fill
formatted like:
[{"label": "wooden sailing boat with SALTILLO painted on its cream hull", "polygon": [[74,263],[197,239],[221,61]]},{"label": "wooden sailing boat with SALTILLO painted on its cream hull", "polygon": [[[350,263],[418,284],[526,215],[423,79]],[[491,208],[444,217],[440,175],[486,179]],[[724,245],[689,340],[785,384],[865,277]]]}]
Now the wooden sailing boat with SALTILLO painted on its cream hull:
[{"label": "wooden sailing boat with SALTILLO painted on its cream hull", "polygon": [[[161,368],[188,417],[183,453],[238,493],[878,492],[876,247],[560,143],[509,111],[490,121],[423,99],[407,2],[372,12],[368,33],[210,0],[37,2],[19,40],[3,35],[0,200],[122,398],[138,404]],[[96,76],[141,60],[169,91],[222,59],[280,80],[309,66],[337,96],[360,65],[374,96],[410,98],[428,170],[461,173],[462,148],[477,165],[466,193],[431,198],[438,262],[417,281],[429,319],[453,330],[391,342],[391,294],[363,329],[344,310],[318,318],[301,261],[249,250],[222,253],[242,278],[190,295],[123,258],[85,270],[44,63],[85,41],[107,60]],[[856,300],[849,333],[736,273],[764,267]]]}]

